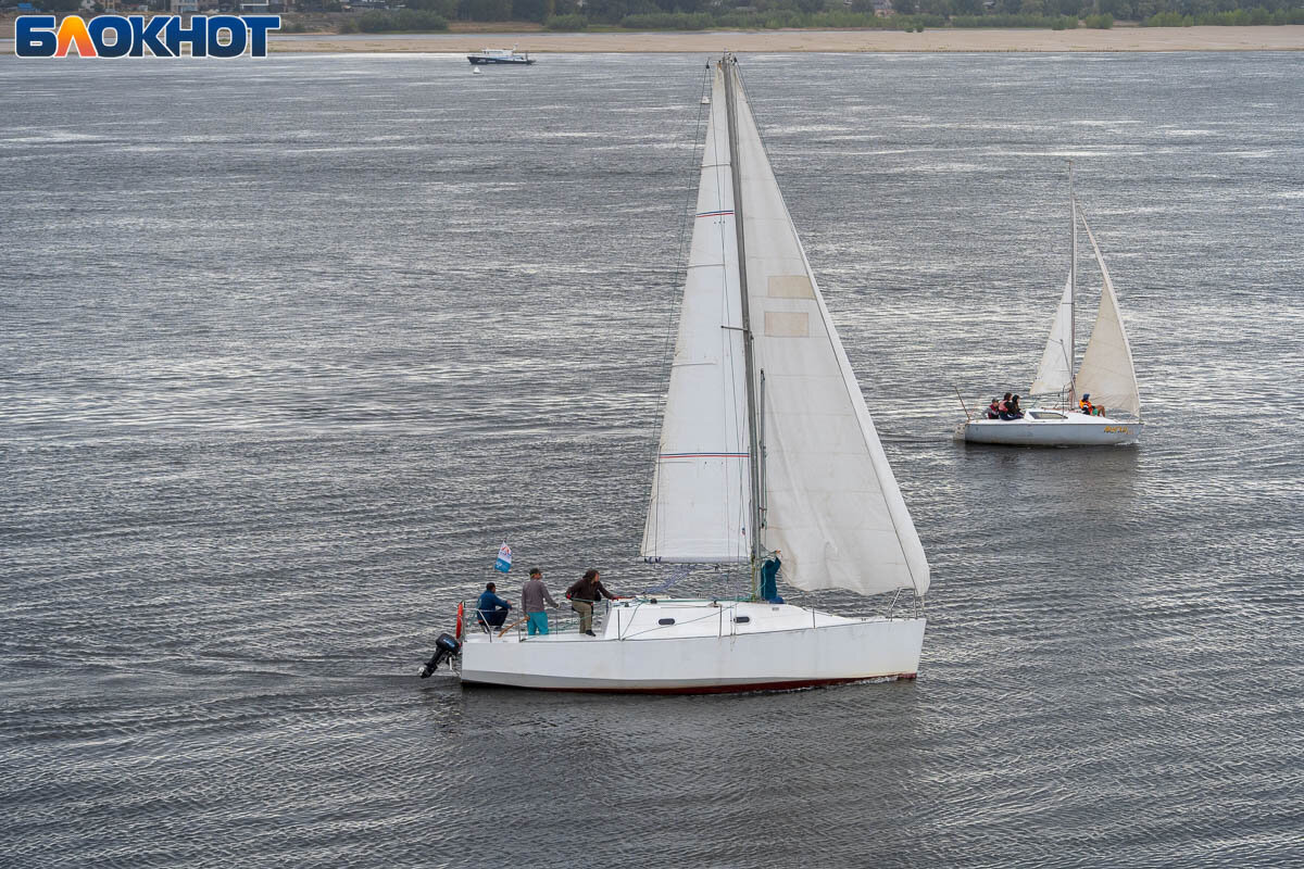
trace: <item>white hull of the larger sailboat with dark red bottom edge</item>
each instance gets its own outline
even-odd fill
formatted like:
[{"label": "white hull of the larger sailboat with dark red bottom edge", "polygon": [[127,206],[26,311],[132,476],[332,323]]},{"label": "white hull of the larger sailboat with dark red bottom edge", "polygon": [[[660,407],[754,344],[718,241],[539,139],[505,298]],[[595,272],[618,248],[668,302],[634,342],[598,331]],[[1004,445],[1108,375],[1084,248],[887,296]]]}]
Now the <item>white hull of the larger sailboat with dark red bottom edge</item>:
[{"label": "white hull of the larger sailboat with dark red bottom edge", "polygon": [[[738,624],[738,616],[747,624]],[[678,624],[662,627],[662,618]],[[472,634],[462,649],[462,680],[553,691],[716,693],[913,677],[923,628],[922,618],[845,619],[786,605],[621,603],[599,637],[575,631]]]}]

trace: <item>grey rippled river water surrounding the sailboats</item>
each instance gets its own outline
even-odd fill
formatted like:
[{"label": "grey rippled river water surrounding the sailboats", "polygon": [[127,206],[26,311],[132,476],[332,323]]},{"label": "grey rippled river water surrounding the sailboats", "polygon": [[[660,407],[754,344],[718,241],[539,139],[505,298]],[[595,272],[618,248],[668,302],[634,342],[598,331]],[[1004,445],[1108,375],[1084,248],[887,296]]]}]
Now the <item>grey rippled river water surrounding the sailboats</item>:
[{"label": "grey rippled river water surrounding the sailboats", "polygon": [[[1297,55],[746,57],[934,565],[919,679],[413,676],[502,539],[661,580],[703,60],[0,57],[0,862],[1304,864]],[[965,448],[1067,158],[1146,442]]]}]

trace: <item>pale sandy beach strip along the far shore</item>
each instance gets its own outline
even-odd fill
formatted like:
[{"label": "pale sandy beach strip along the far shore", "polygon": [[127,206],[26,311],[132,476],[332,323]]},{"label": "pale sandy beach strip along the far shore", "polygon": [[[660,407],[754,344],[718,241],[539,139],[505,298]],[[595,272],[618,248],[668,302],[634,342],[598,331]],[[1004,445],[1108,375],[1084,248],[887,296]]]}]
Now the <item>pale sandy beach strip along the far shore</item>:
[{"label": "pale sandy beach strip along the far shore", "polygon": [[1301,51],[1304,25],[1282,27],[1118,27],[1114,30],[764,30],[748,33],[439,34],[278,36],[274,52],[455,52],[485,46],[529,52],[909,52],[909,51]]}]

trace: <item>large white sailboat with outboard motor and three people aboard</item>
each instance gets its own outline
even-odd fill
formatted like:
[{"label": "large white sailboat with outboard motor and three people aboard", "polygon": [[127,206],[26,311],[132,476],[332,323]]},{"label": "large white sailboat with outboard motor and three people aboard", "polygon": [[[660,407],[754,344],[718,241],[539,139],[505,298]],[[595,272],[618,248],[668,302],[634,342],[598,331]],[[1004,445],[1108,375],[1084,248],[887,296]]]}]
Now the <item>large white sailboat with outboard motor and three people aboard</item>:
[{"label": "large white sailboat with outboard motor and three people aboard", "polygon": [[[463,683],[679,693],[918,671],[928,563],[733,56],[715,64],[709,106],[642,554],[739,565],[754,593],[615,601],[595,637],[471,632],[460,644]],[[788,584],[884,595],[887,614],[763,599],[758,577],[780,551]],[[898,605],[906,612],[895,614]]]}]

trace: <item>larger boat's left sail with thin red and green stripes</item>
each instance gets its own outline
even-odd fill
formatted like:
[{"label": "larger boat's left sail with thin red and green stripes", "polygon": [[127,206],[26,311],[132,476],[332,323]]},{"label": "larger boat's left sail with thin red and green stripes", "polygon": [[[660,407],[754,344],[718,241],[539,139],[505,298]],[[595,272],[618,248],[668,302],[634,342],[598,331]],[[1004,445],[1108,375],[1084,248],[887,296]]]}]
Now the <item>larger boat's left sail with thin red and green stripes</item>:
[{"label": "larger boat's left sail with thin red and green stripes", "polygon": [[679,334],[643,528],[648,560],[750,559],[751,470],[737,244],[724,77],[717,69]]}]

